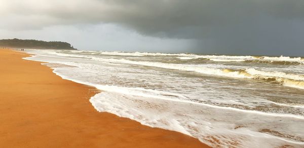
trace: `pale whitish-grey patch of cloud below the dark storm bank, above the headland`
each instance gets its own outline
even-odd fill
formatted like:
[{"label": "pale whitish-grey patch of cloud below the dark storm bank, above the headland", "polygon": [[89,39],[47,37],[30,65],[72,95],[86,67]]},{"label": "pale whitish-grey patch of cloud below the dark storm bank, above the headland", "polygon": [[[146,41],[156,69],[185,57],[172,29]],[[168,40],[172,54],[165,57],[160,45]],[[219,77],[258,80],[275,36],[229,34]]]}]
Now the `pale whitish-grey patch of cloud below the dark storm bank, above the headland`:
[{"label": "pale whitish-grey patch of cloud below the dark storm bank, above the headland", "polygon": [[185,52],[193,49],[195,41],[156,38],[138,34],[115,24],[56,25],[36,30],[1,30],[6,38],[64,41],[81,50]]}]

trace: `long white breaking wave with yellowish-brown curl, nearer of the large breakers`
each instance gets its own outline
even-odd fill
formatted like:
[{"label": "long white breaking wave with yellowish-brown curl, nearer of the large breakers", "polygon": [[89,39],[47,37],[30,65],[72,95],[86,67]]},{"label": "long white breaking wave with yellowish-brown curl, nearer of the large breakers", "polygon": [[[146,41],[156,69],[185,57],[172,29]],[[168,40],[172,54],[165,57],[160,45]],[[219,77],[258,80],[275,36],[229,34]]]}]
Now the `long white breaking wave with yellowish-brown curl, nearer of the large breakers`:
[{"label": "long white breaking wave with yellowish-brown curl, nearer of the large breakers", "polygon": [[293,73],[285,73],[285,72],[277,72],[277,71],[274,72],[262,71],[254,68],[230,69],[230,68],[216,68],[216,67],[212,67],[212,65],[173,64],[173,63],[160,63],[160,62],[131,61],[126,59],[93,58],[93,60],[153,66],[153,67],[177,69],[184,71],[195,71],[195,72],[203,73],[205,75],[214,75],[214,76],[222,76],[222,77],[264,80],[266,82],[277,82],[284,86],[304,89],[304,76],[296,75]]}]

